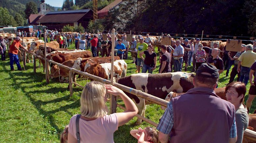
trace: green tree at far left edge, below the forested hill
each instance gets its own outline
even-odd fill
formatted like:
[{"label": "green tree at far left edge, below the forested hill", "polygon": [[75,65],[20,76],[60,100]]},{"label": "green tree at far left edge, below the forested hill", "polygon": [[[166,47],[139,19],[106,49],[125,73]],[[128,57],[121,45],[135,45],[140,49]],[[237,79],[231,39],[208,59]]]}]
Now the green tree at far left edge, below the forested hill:
[{"label": "green tree at far left edge, below the forested hill", "polygon": [[9,11],[6,8],[2,8],[2,7],[0,7],[0,25],[1,26],[17,25],[15,20],[13,19],[13,16],[10,15]]}]

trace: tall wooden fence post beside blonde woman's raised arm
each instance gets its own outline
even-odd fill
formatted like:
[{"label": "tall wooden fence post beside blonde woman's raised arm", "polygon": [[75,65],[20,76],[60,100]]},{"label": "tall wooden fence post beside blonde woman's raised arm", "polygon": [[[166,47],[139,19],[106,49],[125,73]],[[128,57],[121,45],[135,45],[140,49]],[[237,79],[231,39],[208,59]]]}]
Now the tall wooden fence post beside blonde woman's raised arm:
[{"label": "tall wooden fence post beside blonde woman's raised arm", "polygon": [[[115,29],[112,30],[112,39],[115,39]],[[112,44],[112,51],[111,51],[111,85],[113,85],[113,78],[114,78],[114,50],[115,44]],[[116,96],[110,94],[110,113],[116,113]]]}]

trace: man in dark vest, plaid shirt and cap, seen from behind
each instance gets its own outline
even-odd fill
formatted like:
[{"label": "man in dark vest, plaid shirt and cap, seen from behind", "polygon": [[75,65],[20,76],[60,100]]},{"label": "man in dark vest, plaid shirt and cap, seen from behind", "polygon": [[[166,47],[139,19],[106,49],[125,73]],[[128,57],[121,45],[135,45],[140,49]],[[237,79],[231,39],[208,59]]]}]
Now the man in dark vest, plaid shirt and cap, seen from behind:
[{"label": "man in dark vest, plaid shirt and cap, seen from behind", "polygon": [[218,97],[214,89],[218,70],[203,63],[193,78],[194,88],[174,97],[158,124],[161,143],[235,143],[235,107]]}]

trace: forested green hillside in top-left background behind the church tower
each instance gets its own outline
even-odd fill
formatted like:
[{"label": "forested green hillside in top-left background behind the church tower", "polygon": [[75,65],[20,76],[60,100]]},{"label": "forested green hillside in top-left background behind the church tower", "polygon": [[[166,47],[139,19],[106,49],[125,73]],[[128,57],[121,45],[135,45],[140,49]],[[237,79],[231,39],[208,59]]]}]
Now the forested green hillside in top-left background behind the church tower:
[{"label": "forested green hillside in top-left background behind the church tower", "polygon": [[[10,14],[14,17],[19,11],[24,11],[28,2],[33,1],[37,4],[38,8],[41,4],[39,0],[0,0],[0,6],[7,8]],[[54,7],[46,4],[46,9],[54,11]]]}]

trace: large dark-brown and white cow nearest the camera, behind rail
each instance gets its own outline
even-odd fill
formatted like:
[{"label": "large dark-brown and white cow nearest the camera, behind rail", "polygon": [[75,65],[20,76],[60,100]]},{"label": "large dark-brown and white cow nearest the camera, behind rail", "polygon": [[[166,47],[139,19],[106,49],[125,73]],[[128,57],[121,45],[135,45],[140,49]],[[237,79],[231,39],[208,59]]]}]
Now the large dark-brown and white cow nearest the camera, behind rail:
[{"label": "large dark-brown and white cow nearest the camera, behind rail", "polygon": [[[137,73],[127,77],[117,78],[116,82],[133,89],[141,90],[142,92],[146,92],[161,99],[165,99],[166,95],[171,91],[175,90],[177,93],[182,93],[192,89],[194,87],[194,77],[194,73],[187,72],[161,74]],[[138,114],[145,117],[145,105],[152,104],[152,102],[133,94],[125,93],[136,103],[139,109]],[[136,124],[141,124],[141,119],[138,118]]]}]

